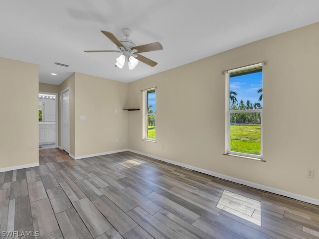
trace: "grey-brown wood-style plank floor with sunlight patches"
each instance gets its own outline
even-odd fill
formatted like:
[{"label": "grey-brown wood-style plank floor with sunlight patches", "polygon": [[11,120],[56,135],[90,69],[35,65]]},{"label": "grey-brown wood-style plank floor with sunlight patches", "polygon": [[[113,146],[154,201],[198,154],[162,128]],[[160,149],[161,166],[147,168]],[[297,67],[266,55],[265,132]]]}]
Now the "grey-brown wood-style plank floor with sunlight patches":
[{"label": "grey-brown wood-style plank floor with sunlight patches", "polygon": [[39,167],[0,173],[0,237],[319,238],[318,206],[139,154],[73,160],[54,148],[39,157]]}]

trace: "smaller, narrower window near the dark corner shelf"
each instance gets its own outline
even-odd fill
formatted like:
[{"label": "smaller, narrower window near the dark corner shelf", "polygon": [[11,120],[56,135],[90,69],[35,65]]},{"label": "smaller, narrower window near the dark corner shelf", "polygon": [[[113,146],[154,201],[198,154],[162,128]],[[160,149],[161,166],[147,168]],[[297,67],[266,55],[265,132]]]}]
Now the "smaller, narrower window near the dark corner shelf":
[{"label": "smaller, narrower window near the dark corner shelf", "polygon": [[156,92],[155,88],[144,91],[143,95],[143,138],[146,140],[155,141],[156,126],[155,126],[155,112],[156,112]]}]

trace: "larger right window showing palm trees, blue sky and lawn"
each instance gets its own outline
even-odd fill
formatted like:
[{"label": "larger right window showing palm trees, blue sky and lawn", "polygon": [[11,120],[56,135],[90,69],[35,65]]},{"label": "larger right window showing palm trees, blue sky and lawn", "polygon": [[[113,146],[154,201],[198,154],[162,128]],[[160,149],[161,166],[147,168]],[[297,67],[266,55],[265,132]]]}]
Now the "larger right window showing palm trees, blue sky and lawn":
[{"label": "larger right window showing palm trees, blue sky and lawn", "polygon": [[263,63],[226,72],[226,153],[263,157]]}]

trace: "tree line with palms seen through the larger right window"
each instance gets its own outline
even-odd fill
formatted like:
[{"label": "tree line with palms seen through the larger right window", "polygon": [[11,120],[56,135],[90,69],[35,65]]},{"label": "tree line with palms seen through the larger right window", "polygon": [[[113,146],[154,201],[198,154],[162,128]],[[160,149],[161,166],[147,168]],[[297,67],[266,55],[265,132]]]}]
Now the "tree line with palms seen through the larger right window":
[{"label": "tree line with palms seen through the larger right window", "polygon": [[[263,88],[259,88],[257,93],[260,93],[258,101],[262,101],[263,99]],[[240,100],[239,104],[237,104],[237,92],[230,91],[229,92],[229,100],[230,100],[230,110],[256,110],[262,109],[262,105],[257,103],[252,103],[250,100],[246,101],[244,104],[243,100]],[[261,113],[232,113],[230,114],[230,122],[231,123],[261,123]]]}]

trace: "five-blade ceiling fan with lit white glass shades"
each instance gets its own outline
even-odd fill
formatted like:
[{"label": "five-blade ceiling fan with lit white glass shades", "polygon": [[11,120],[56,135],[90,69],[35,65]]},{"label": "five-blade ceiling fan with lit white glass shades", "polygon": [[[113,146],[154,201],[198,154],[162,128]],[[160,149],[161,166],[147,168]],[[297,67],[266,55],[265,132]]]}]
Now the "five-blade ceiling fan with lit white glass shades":
[{"label": "five-blade ceiling fan with lit white glass shades", "polygon": [[119,68],[123,68],[125,61],[128,61],[129,69],[134,69],[139,61],[149,65],[156,66],[158,63],[140,55],[139,53],[148,52],[148,51],[158,51],[162,50],[163,47],[160,42],[153,42],[146,45],[136,46],[135,43],[128,39],[131,35],[132,30],[129,28],[123,28],[122,32],[125,35],[126,39],[118,40],[111,32],[101,31],[106,37],[108,37],[114,44],[118,47],[118,50],[97,50],[97,51],[84,51],[84,52],[122,52],[123,54],[116,59],[116,66]]}]

